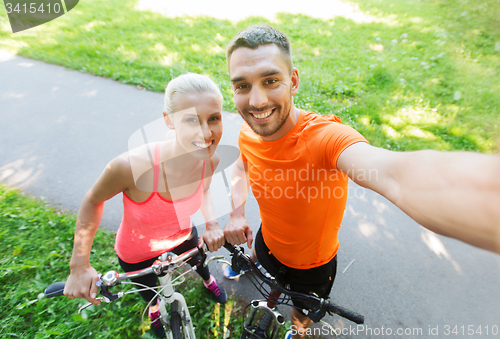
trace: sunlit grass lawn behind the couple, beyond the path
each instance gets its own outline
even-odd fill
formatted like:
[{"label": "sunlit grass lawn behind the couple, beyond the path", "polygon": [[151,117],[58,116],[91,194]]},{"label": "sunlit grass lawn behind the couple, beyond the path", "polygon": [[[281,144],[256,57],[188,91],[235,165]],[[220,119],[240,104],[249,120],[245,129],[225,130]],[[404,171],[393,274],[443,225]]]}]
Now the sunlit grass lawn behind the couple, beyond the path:
[{"label": "sunlit grass lawn behind the couple, beyond the path", "polygon": [[163,91],[190,71],[221,86],[235,111],[225,47],[239,30],[270,23],[288,34],[299,69],[298,107],[340,115],[393,150],[499,151],[500,6],[497,0],[356,0],[372,22],[279,14],[237,23],[168,18],[136,1],[82,1],[67,15],[12,34],[0,48]]}]

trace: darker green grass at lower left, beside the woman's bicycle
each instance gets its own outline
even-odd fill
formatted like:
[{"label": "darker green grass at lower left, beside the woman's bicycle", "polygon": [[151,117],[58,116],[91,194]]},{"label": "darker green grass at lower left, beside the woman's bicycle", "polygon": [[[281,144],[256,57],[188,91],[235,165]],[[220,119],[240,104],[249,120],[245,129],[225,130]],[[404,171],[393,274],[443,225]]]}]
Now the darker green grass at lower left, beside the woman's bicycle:
[{"label": "darker green grass at lower left, beside the woman's bicycle", "polygon": [[[43,298],[43,290],[69,275],[75,216],[0,185],[1,338],[153,338],[141,322],[145,303],[129,295],[92,306],[78,315],[82,299]],[[99,272],[119,269],[114,235],[99,230],[92,265]],[[241,332],[241,308],[234,298],[223,306],[212,301],[196,275],[180,285],[199,338],[231,337]]]}]

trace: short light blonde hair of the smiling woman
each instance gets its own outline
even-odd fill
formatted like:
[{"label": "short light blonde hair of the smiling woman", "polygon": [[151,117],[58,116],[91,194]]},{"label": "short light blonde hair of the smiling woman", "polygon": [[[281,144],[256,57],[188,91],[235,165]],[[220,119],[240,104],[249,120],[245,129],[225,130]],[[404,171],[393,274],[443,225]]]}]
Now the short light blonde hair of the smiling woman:
[{"label": "short light blonde hair of the smiling woman", "polygon": [[175,97],[182,93],[204,93],[211,92],[224,102],[219,86],[206,75],[186,73],[172,79],[165,88],[165,99],[163,109],[165,113],[175,112]]}]

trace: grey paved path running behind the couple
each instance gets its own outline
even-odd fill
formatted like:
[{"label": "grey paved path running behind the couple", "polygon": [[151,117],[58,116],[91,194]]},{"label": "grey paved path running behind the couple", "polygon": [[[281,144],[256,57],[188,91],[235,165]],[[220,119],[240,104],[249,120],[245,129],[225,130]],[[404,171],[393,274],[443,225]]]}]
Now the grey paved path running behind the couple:
[{"label": "grey paved path running behind the couple", "polygon": [[[160,117],[162,98],[0,52],[0,181],[76,212],[107,162],[127,151],[135,131]],[[240,124],[237,115],[224,114],[221,144],[236,145]],[[225,225],[227,199],[218,182],[216,208]],[[481,326],[483,334],[474,337],[498,337],[492,329],[500,330],[500,256],[426,231],[373,192],[356,185],[350,192],[332,298],[363,313],[368,329],[341,337],[386,338],[391,330],[395,338],[442,338],[446,325],[458,326],[458,333]],[[120,199],[106,203],[102,227],[116,229]],[[247,215],[256,230],[255,199],[249,199]],[[219,268],[213,271],[220,277]],[[248,282],[224,285],[246,299],[255,296]],[[335,327],[351,326],[338,317],[325,319]],[[422,334],[396,335],[400,328]],[[332,337],[326,328],[318,330]]]}]

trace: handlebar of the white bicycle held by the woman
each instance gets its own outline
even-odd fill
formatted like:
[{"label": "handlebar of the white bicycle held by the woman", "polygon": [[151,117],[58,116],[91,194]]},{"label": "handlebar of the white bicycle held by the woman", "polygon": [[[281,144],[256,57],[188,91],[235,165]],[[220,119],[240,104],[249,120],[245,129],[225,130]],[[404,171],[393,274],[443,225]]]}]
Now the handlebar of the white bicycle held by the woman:
[{"label": "handlebar of the white bicycle held by the woman", "polygon": [[[108,271],[106,274],[101,276],[99,280],[97,281],[96,285],[97,287],[100,287],[102,289],[106,290],[106,287],[111,287],[118,285],[120,281],[126,280],[126,279],[131,279],[131,278],[137,278],[137,277],[142,277],[147,274],[154,273],[156,275],[161,275],[165,270],[168,270],[170,267],[179,265],[186,261],[187,259],[194,257],[196,255],[200,254],[201,255],[201,261],[198,263],[195,267],[198,267],[199,265],[204,265],[205,260],[206,260],[206,253],[202,248],[193,248],[192,250],[189,250],[187,252],[184,252],[176,257],[169,256],[167,260],[165,261],[160,261],[157,260],[151,265],[150,267],[144,268],[142,270],[137,270],[137,271],[132,271],[132,272],[125,272],[125,273],[118,273],[117,271]],[[53,298],[53,297],[60,297],[64,295],[64,286],[66,285],[65,281],[60,281],[51,284],[48,286],[45,291],[43,291],[43,294],[45,295],[45,298]],[[103,294],[101,292],[101,294]],[[104,294],[103,294],[104,295]],[[112,294],[106,294],[104,295],[108,299],[110,297],[112,298],[111,300],[115,299],[114,295]]]}]

